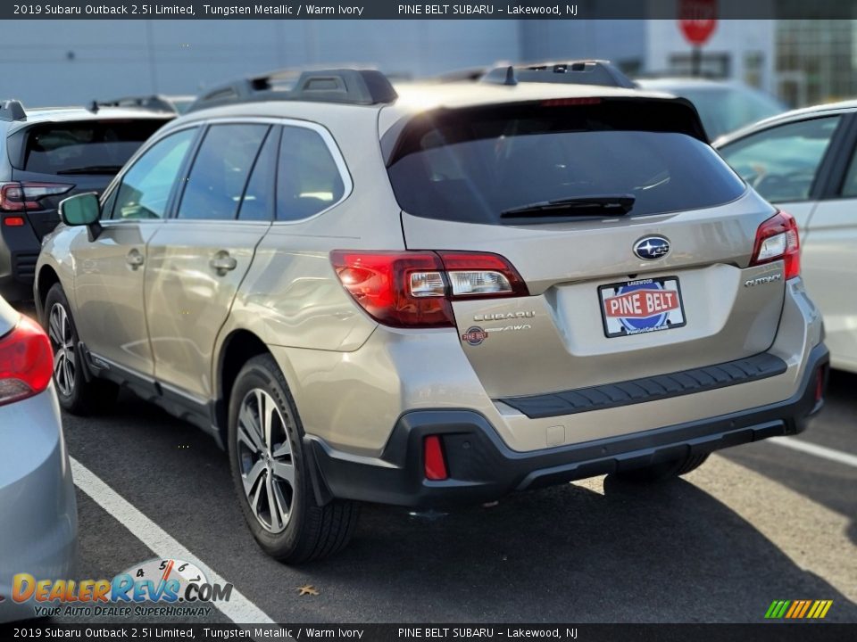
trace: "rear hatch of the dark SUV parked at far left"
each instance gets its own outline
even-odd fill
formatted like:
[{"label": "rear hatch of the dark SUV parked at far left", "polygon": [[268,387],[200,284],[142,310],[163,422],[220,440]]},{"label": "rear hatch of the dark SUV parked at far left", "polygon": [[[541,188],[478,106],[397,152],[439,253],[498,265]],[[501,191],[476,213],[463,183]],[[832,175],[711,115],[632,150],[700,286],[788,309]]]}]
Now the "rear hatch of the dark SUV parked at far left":
[{"label": "rear hatch of the dark SUV parked at far left", "polygon": [[12,180],[0,183],[0,210],[19,212],[37,238],[60,222],[57,208],[75,193],[101,193],[164,119],[35,122],[6,141]]}]

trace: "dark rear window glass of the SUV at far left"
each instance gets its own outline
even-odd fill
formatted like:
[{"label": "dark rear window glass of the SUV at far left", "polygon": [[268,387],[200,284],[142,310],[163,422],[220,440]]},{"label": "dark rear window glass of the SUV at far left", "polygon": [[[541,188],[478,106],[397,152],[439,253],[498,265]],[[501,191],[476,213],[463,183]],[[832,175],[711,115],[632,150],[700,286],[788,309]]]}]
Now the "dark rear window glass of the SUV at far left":
[{"label": "dark rear window glass of the SUV at far left", "polygon": [[162,119],[37,125],[25,132],[23,167],[41,174],[115,174]]}]

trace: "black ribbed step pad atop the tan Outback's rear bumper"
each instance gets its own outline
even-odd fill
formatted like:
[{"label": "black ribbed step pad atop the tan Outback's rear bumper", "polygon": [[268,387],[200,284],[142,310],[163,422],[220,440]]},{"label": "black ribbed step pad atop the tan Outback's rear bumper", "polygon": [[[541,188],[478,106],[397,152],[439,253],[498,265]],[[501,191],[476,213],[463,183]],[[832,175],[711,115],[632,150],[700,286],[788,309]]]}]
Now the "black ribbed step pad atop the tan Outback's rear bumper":
[{"label": "black ribbed step pad atop the tan Outback's rear bumper", "polygon": [[768,352],[762,352],[753,357],[736,359],[716,366],[544,395],[509,397],[498,401],[519,410],[530,419],[541,419],[670,399],[670,397],[767,379],[784,372],[786,372],[785,361]]}]

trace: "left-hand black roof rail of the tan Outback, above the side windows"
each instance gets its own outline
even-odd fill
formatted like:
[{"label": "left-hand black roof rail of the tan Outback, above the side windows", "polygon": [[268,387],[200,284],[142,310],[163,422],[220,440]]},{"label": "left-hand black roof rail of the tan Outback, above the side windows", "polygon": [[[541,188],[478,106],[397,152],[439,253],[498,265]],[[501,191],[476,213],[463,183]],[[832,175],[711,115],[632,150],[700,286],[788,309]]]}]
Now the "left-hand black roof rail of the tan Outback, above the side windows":
[{"label": "left-hand black roof rail of the tan Outback, above the side windows", "polygon": [[300,75],[295,70],[279,70],[216,86],[187,111],[261,101],[371,105],[393,103],[397,97],[387,76],[378,70],[312,70]]}]

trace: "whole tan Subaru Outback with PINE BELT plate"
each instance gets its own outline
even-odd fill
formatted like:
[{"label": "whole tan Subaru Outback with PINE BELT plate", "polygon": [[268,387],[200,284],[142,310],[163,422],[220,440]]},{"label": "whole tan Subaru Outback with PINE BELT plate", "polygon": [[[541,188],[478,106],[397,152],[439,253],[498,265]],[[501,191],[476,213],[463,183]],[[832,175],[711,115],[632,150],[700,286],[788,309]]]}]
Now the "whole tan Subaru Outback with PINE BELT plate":
[{"label": "whole tan Subaru Outback with PINE BELT plate", "polygon": [[61,209],[37,307],[63,407],[123,384],[211,432],[289,562],[360,500],[668,477],[822,403],[794,221],[682,99],[254,78]]}]

